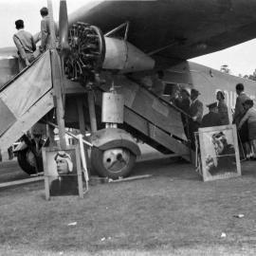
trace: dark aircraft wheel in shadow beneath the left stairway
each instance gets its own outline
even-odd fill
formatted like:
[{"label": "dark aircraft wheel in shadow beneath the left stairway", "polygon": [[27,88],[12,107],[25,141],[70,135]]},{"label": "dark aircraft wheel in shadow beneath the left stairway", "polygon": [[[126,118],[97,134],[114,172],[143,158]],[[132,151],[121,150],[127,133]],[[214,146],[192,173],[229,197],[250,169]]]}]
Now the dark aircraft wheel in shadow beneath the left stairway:
[{"label": "dark aircraft wheel in shadow beneath the left stairway", "polygon": [[[38,157],[38,172],[43,172],[43,158]],[[17,152],[17,159],[21,169],[27,174],[36,174],[36,156],[27,148]]]}]

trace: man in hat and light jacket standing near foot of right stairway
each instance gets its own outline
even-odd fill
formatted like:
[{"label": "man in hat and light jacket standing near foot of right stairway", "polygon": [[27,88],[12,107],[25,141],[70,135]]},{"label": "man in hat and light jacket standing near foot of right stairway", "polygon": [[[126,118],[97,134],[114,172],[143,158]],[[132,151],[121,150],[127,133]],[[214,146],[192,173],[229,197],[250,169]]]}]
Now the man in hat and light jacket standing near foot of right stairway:
[{"label": "man in hat and light jacket standing near foot of right stairway", "polygon": [[202,117],[203,117],[203,111],[204,111],[203,103],[197,99],[199,95],[200,95],[199,91],[197,91],[196,89],[192,89],[192,92],[191,92],[192,104],[190,106],[190,111],[189,111],[191,116],[189,130],[190,130],[190,139],[192,141],[192,150],[195,150],[194,133],[197,132],[198,128],[200,127]]}]

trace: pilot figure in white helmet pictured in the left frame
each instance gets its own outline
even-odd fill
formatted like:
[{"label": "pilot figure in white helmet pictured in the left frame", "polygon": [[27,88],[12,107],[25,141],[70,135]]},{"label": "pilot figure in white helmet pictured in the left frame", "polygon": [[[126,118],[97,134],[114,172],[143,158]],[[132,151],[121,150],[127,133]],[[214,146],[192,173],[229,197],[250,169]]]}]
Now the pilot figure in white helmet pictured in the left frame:
[{"label": "pilot figure in white helmet pictured in the left frame", "polygon": [[59,176],[51,182],[50,195],[78,194],[78,178],[73,174],[71,156],[64,151],[59,151],[54,156],[54,160]]}]

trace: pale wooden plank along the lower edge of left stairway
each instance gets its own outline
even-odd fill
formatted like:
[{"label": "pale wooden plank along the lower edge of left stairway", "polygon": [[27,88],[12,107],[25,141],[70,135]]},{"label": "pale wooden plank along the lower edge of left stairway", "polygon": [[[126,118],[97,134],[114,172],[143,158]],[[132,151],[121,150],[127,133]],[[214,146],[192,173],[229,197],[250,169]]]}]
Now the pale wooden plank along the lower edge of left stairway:
[{"label": "pale wooden plank along the lower edge of left stairway", "polygon": [[12,143],[22,137],[32,125],[42,119],[53,107],[52,91],[50,90],[0,137],[1,150],[7,150]]}]

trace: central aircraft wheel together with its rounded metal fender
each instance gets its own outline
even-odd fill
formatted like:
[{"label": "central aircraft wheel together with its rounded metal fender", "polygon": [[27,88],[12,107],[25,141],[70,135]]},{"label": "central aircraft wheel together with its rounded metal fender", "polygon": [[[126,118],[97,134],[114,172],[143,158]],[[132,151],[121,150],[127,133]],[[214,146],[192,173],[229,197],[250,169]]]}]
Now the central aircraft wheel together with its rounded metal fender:
[{"label": "central aircraft wheel together with its rounded metal fender", "polygon": [[112,179],[128,176],[140,150],[135,139],[119,128],[96,131],[91,142],[91,164],[94,171]]}]

